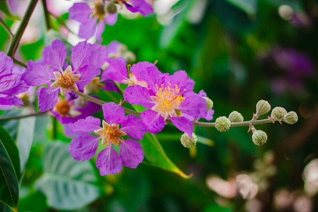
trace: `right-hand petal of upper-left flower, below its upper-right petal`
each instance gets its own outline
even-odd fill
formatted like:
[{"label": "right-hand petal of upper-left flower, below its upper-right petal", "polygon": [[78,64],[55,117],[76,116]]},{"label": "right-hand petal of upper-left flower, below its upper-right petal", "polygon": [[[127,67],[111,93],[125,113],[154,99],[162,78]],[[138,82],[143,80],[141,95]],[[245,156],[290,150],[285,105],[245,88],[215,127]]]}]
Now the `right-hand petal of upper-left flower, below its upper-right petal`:
[{"label": "right-hand petal of upper-left flower, below its upper-right petal", "polygon": [[101,74],[101,69],[92,64],[88,64],[84,67],[81,67],[76,74],[80,74],[80,78],[76,81],[76,84],[79,89],[84,89],[84,86],[87,85],[94,77]]}]

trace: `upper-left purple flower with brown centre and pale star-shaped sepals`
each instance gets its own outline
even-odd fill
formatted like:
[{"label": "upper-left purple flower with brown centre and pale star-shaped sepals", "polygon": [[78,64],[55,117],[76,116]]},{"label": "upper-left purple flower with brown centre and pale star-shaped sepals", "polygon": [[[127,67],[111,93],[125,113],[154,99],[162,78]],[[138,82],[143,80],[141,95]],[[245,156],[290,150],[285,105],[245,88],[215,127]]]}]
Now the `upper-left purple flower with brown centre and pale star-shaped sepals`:
[{"label": "upper-left purple flower with brown centre and pale star-shaped sepals", "polygon": [[[66,63],[67,50],[65,45],[54,40],[43,50],[43,63],[29,61],[27,69],[22,75],[24,81],[31,86],[48,84],[49,87],[40,87],[38,90],[39,108],[41,112],[52,109],[58,93],[64,96],[72,90],[82,90],[94,77],[101,73],[98,66],[91,64],[92,53],[95,47],[86,41],[72,47],[71,60],[73,67]],[[50,68],[47,68],[49,66]]]}]

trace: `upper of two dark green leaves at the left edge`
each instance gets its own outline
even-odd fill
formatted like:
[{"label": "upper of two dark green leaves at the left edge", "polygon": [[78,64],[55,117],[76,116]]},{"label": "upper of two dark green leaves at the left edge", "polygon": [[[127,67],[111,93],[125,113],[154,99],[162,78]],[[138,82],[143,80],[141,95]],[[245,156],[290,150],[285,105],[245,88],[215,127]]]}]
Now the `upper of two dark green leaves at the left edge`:
[{"label": "upper of two dark green leaves at the left edge", "polygon": [[15,141],[11,137],[10,133],[3,127],[0,126],[0,140],[4,144],[14,170],[16,172],[17,178],[20,178],[20,158],[19,158],[19,150]]}]

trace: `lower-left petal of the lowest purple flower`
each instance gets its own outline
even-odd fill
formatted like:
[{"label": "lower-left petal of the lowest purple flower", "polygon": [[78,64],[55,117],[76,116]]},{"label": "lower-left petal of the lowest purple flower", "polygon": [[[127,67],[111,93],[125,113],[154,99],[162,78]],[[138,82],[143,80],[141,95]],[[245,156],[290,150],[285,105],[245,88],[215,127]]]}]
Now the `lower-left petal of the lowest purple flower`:
[{"label": "lower-left petal of the lowest purple flower", "polygon": [[100,138],[84,134],[74,138],[69,147],[69,153],[77,161],[86,161],[96,154]]}]

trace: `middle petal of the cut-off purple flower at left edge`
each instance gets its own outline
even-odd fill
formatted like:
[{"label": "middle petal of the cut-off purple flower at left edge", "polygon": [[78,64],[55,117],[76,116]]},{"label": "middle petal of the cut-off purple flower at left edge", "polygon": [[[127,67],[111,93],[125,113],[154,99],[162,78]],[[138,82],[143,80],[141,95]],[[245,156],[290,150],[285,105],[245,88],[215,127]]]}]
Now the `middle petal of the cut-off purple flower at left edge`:
[{"label": "middle petal of the cut-off purple flower at left edge", "polygon": [[20,74],[6,75],[0,79],[0,94],[15,95],[25,92],[29,86],[21,80]]}]

